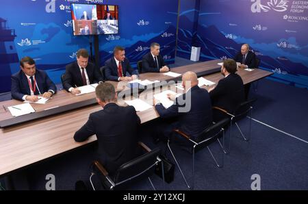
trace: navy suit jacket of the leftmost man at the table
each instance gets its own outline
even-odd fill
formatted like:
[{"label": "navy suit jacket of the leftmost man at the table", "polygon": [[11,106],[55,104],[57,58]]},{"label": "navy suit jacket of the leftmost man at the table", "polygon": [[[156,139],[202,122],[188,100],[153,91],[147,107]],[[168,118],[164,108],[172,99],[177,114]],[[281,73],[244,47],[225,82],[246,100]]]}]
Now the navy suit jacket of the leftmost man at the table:
[{"label": "navy suit jacket of the leftmost man at the table", "polygon": [[[38,89],[40,93],[43,94],[49,90],[53,90],[53,92],[57,92],[57,88],[51,79],[48,77],[45,71],[41,71],[36,69],[36,74],[34,75],[36,79],[36,84],[38,84]],[[16,100],[23,101],[24,95],[30,95],[30,87],[27,76],[23,71],[18,71],[11,77],[12,85],[11,85],[11,94],[12,98]]]}]

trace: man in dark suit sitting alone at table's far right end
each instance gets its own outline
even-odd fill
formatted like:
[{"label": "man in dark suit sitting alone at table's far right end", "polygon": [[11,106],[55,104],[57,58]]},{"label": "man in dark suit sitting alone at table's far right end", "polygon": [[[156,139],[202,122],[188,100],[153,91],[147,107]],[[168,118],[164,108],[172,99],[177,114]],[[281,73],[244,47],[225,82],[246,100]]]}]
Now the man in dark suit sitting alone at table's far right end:
[{"label": "man in dark suit sitting alone at table's far right end", "polygon": [[[240,62],[240,68],[257,68],[257,59],[255,53],[249,51],[249,44],[243,44],[241,51],[235,55],[235,62]],[[246,84],[245,88],[245,99],[248,99],[249,90],[251,88],[251,84]]]}]

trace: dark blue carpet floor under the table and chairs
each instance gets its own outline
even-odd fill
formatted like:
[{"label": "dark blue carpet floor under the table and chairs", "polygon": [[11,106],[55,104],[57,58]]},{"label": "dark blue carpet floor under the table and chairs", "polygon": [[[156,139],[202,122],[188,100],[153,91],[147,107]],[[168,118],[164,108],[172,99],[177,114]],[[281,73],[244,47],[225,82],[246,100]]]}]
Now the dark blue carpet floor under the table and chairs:
[{"label": "dark blue carpet floor under the table and chairs", "polygon": [[[190,63],[177,59],[177,66]],[[217,168],[207,149],[196,153],[194,176],[195,190],[251,190],[251,176],[261,178],[261,190],[308,190],[308,90],[261,79],[251,96],[257,97],[251,123],[251,140],[245,142],[233,129],[231,151],[224,155],[224,167]],[[261,123],[259,123],[259,122]],[[265,123],[270,127],[262,124]],[[151,123],[147,124],[151,129]],[[240,127],[247,133],[247,121]],[[275,129],[273,129],[275,128]],[[229,131],[226,133],[228,136]],[[154,144],[150,136],[140,138],[151,148],[165,149],[166,144]],[[75,182],[83,180],[90,187],[89,166],[94,159],[96,144],[64,153],[59,157],[40,162],[24,170],[28,175],[29,188],[44,190],[46,175],[55,175],[56,190],[74,190]],[[173,144],[175,157],[189,183],[192,183],[192,155]],[[218,143],[211,144],[218,162],[222,151]],[[167,151],[168,158],[172,156]],[[152,175],[157,190],[188,190],[179,169],[175,169],[175,180],[163,185],[162,179]],[[151,190],[149,180],[133,183],[129,190]]]}]

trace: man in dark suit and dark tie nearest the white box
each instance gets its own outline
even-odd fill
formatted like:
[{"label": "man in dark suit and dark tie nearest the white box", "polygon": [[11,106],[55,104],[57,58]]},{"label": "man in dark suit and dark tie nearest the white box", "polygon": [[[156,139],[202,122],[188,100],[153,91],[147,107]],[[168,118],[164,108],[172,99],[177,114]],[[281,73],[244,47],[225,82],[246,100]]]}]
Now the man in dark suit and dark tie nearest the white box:
[{"label": "man in dark suit and dark tie nearest the white box", "polygon": [[162,55],[159,55],[159,49],[158,43],[151,44],[151,51],[142,58],[142,73],[166,73],[169,71]]}]

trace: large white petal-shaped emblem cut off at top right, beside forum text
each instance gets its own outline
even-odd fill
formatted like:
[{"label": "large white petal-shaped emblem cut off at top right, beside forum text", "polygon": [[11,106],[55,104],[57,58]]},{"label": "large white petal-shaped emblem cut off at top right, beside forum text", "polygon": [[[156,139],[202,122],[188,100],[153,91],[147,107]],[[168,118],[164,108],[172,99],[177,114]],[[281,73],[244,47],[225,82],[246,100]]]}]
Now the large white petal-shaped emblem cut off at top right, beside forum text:
[{"label": "large white petal-shaped emblem cut off at top right, beside forum text", "polygon": [[289,1],[286,0],[270,0],[267,1],[266,4],[261,4],[261,0],[251,0],[251,2],[254,2],[251,5],[251,12],[253,13],[259,13],[261,11],[268,12],[270,10],[274,10],[277,12],[285,12],[287,10],[287,3]]}]

